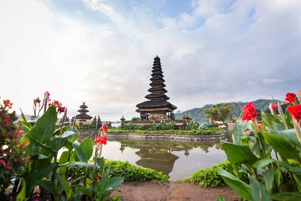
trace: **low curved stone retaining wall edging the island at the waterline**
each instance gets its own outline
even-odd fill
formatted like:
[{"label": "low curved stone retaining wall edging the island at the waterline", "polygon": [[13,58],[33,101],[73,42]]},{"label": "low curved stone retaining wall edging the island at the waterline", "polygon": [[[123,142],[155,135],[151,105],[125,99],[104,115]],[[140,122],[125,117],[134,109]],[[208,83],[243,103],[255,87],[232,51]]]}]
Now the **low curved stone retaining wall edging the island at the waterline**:
[{"label": "low curved stone retaining wall edging the island at the waterline", "polygon": [[[98,130],[86,130],[79,131],[79,134],[96,134]],[[107,133],[107,138],[116,139],[139,139],[139,140],[169,140],[169,141],[195,141],[195,142],[219,142],[220,140],[225,140],[225,131],[221,135],[171,135],[171,134],[135,134],[135,133]]]}]

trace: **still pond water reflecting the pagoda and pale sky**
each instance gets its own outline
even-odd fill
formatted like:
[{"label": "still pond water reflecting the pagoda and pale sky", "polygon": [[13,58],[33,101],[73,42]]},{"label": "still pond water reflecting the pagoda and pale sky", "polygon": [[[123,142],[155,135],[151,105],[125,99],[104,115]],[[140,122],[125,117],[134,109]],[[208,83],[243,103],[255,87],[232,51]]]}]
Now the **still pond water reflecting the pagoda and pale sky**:
[{"label": "still pond water reflecting the pagoda and pale sky", "polygon": [[[228,141],[231,142],[231,132],[226,131]],[[95,139],[95,135],[82,135],[78,137],[78,141],[86,137]],[[162,140],[109,139],[107,145],[103,146],[101,155],[106,159],[129,161],[133,165],[161,171],[172,181],[188,177],[199,168],[209,168],[227,159],[220,143]]]}]

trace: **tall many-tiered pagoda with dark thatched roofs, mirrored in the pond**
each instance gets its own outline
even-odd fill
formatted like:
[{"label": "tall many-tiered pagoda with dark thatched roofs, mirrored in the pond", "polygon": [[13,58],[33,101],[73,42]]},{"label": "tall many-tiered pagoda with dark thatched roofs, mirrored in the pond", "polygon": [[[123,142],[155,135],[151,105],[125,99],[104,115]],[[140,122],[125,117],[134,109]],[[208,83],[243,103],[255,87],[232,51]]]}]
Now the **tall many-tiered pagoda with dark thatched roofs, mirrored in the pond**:
[{"label": "tall many-tiered pagoda with dark thatched roofs, mirrored in the pond", "polygon": [[164,84],[165,80],[163,79],[164,76],[158,55],[154,58],[151,76],[151,88],[148,90],[150,94],[145,96],[148,101],[136,105],[138,108],[136,112],[140,113],[141,120],[164,120],[168,118],[166,113],[174,111],[177,107],[167,102],[169,97],[165,94],[167,90],[164,89],[166,85]]}]

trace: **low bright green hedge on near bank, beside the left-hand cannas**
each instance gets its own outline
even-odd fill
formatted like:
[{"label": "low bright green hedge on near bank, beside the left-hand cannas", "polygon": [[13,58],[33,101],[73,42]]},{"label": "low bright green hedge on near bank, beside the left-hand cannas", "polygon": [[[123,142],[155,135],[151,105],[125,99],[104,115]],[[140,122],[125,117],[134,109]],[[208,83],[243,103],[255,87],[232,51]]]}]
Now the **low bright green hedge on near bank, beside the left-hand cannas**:
[{"label": "low bright green hedge on near bank, beside the left-hand cannas", "polygon": [[[91,160],[90,160],[91,161]],[[168,178],[162,172],[157,172],[150,168],[141,168],[136,165],[130,164],[128,161],[105,160],[104,170],[110,168],[111,177],[124,177],[125,181],[144,182],[148,180],[156,180],[166,183]],[[69,169],[69,177],[76,175],[77,168]]]}]

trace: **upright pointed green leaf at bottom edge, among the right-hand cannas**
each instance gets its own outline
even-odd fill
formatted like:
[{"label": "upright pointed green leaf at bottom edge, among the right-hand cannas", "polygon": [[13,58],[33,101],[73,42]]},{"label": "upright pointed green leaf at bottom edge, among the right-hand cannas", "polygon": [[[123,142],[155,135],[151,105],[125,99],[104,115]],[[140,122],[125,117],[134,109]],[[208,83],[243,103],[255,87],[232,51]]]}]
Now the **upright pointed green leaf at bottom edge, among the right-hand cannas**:
[{"label": "upright pointed green leaf at bottom edge, among the right-hand cannas", "polygon": [[250,194],[251,201],[272,201],[268,192],[254,177],[251,177],[250,181]]}]

